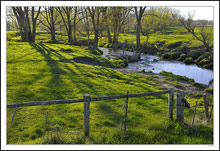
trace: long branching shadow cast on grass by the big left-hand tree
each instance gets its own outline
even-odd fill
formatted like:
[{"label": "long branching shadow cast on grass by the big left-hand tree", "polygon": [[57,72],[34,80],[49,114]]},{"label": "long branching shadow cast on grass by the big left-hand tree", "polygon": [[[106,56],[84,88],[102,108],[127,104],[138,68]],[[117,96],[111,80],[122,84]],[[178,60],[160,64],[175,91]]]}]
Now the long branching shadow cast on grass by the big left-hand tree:
[{"label": "long branching shadow cast on grass by the big left-hand tree", "polygon": [[[62,79],[60,78],[61,75],[65,75],[68,76],[69,80],[71,80],[71,82],[76,85],[76,87],[80,90],[80,92],[83,93],[87,93],[88,91],[91,92],[93,94],[98,95],[93,87],[94,84],[92,81],[89,80],[89,78],[85,77],[84,75],[82,76],[74,76],[77,75],[77,71],[82,72],[84,71],[84,68],[81,67],[80,65],[77,65],[77,63],[75,63],[74,61],[71,61],[71,59],[69,59],[69,62],[65,62],[67,59],[62,56],[59,51],[54,50],[48,46],[46,46],[43,43],[30,43],[30,45],[32,47],[34,47],[38,52],[40,52],[42,54],[42,56],[45,57],[45,61],[47,61],[49,67],[50,67],[50,72],[52,73],[52,79],[50,80],[50,82],[48,83],[48,87],[50,87],[50,89],[54,89],[53,91],[56,93],[59,93],[58,91],[56,91],[55,87],[59,87],[59,85],[61,84]],[[57,60],[54,60],[52,57],[56,57]],[[71,67],[69,67],[69,65],[67,65],[67,63],[70,63],[74,70],[71,69]],[[65,71],[66,70],[66,71]],[[67,71],[70,73],[68,74]],[[61,92],[60,92],[61,93]],[[60,94],[62,95],[62,94]],[[82,95],[83,96],[83,95]],[[61,98],[60,98],[61,99]]]}]

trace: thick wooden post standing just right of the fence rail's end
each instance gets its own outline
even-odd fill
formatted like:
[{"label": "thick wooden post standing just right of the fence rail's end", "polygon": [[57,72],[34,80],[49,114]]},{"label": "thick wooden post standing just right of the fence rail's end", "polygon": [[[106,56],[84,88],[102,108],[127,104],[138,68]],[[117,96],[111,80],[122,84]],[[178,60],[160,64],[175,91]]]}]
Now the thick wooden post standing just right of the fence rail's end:
[{"label": "thick wooden post standing just right of the fence rail's end", "polygon": [[182,123],[184,122],[184,98],[185,98],[185,95],[183,93],[177,94],[176,119]]}]

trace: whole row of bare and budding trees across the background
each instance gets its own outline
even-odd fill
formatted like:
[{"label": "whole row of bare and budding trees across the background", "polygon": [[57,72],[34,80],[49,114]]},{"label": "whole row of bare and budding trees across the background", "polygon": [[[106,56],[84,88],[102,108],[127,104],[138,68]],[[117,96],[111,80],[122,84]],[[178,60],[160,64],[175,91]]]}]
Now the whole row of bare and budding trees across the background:
[{"label": "whole row of bare and budding trees across the background", "polygon": [[[192,18],[180,17],[179,12],[167,7],[10,7],[9,20],[20,31],[22,41],[35,41],[36,29],[49,31],[51,41],[56,42],[56,31],[64,30],[70,44],[77,43],[76,33],[86,33],[87,42],[94,34],[93,49],[103,35],[116,45],[119,33],[136,32],[136,48],[141,48],[140,34],[147,35],[158,30],[165,31],[169,25],[182,25],[209,49],[207,34],[198,36]],[[113,36],[111,35],[113,33]],[[202,38],[201,38],[202,37]],[[208,36],[209,37],[209,36]]]}]

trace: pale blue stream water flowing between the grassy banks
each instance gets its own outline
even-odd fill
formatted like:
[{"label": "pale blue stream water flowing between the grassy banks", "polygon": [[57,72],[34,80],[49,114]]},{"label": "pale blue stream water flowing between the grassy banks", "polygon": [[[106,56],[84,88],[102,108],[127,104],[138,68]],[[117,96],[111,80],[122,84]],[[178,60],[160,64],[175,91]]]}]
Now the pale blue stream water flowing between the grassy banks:
[{"label": "pale blue stream water flowing between the grassy banks", "polygon": [[[133,52],[123,51],[123,50],[109,50],[109,48],[99,48],[103,51],[102,57],[106,57],[108,54],[112,55],[133,55]],[[133,70],[142,70],[145,71],[151,70],[153,73],[159,73],[162,70],[167,72],[172,72],[176,75],[186,76],[192,78],[195,82],[208,85],[208,83],[213,79],[213,70],[203,69],[197,65],[186,65],[179,61],[154,61],[159,60],[160,58],[154,55],[142,54],[141,60],[137,62],[128,63],[126,68]],[[210,85],[213,87],[213,84]]]}]

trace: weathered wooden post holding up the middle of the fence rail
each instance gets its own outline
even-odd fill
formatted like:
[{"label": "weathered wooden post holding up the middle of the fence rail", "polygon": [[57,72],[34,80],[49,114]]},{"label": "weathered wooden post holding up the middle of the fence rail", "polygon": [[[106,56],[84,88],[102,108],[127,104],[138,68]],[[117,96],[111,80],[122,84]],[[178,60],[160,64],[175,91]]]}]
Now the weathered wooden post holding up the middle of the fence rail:
[{"label": "weathered wooden post holding up the middle of the fence rail", "polygon": [[89,137],[90,95],[84,94],[84,134]]}]

